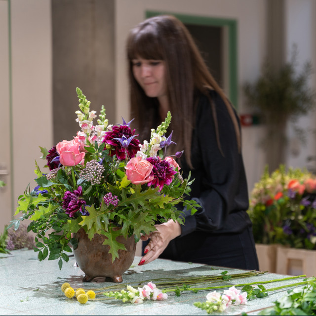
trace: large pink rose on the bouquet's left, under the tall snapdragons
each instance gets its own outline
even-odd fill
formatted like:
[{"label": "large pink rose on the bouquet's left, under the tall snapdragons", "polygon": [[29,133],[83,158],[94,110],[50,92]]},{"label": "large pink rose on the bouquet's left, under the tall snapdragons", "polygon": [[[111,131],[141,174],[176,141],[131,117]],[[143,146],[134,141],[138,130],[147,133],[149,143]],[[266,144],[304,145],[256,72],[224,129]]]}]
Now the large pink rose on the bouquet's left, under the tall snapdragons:
[{"label": "large pink rose on the bouquet's left, under the tall snapdragons", "polygon": [[80,144],[75,140],[63,140],[56,145],[59,162],[64,166],[75,166],[83,163],[85,153],[80,153]]}]

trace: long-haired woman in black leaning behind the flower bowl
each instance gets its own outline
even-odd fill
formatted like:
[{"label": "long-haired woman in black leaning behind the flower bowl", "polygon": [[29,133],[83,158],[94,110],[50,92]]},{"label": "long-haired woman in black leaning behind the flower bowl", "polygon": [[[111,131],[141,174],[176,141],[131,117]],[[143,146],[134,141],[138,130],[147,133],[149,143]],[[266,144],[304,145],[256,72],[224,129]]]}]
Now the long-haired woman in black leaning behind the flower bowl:
[{"label": "long-haired woman in black leaning behind the flower bowl", "polygon": [[160,257],[258,270],[239,120],[188,30],[172,16],[149,18],[130,31],[127,58],[141,138],[171,112],[172,151],[184,149],[178,162],[184,177],[191,171],[191,198],[201,205],[193,216],[184,210],[184,225],[169,220],[143,236],[150,241],[139,264]]}]

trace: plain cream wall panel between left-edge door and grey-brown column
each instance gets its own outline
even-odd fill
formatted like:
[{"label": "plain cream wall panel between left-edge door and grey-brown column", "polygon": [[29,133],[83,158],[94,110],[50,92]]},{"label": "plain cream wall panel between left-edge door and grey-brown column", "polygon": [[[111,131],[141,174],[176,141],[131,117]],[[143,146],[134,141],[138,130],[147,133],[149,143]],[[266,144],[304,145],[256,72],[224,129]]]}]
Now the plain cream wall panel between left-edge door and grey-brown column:
[{"label": "plain cream wall panel between left-edge door and grey-brown column", "polygon": [[[52,146],[50,0],[11,0],[14,201],[36,183],[40,148]],[[13,205],[15,207],[15,205]]]}]

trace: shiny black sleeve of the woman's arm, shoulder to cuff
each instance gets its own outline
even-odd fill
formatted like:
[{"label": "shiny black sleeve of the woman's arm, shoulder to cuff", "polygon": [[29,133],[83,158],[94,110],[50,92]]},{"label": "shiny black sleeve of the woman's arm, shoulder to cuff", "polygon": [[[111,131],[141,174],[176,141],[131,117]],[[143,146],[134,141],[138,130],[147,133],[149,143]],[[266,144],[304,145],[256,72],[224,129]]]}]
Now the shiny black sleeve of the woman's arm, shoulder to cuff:
[{"label": "shiny black sleeve of the woman's arm, shoulder to cuff", "polygon": [[245,216],[237,213],[246,213],[248,208],[247,183],[235,128],[222,98],[215,91],[210,93],[222,152],[216,139],[211,104],[206,96],[202,96],[197,106],[192,146],[196,169],[192,171],[196,177],[192,197],[201,208],[193,216],[184,210],[185,225],[181,227],[181,236],[193,231],[237,231]]}]

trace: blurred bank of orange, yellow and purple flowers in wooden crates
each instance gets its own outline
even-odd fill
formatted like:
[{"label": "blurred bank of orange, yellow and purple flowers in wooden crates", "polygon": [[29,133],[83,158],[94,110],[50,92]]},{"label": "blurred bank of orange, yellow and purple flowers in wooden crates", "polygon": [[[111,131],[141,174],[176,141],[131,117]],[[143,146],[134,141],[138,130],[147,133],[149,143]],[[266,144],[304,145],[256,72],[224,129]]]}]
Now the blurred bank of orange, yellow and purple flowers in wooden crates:
[{"label": "blurred bank of orange, yellow and purple flowers in wooden crates", "polygon": [[316,178],[307,170],[266,168],[248,213],[256,242],[316,249]]}]

